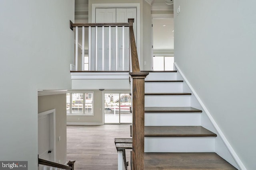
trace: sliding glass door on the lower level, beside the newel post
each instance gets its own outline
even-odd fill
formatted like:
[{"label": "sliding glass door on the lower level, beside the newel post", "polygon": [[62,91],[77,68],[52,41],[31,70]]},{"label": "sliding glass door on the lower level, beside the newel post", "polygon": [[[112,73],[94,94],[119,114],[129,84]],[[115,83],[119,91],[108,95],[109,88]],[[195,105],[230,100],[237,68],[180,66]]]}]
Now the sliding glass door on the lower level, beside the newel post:
[{"label": "sliding glass door on the lower level, beside the newel post", "polygon": [[129,93],[104,93],[104,123],[132,123]]}]

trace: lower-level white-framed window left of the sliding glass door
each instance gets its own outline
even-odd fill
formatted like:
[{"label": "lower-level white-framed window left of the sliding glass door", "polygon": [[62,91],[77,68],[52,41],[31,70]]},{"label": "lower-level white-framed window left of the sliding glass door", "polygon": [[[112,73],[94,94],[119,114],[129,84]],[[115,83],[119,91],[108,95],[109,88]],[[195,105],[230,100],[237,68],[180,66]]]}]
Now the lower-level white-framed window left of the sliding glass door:
[{"label": "lower-level white-framed window left of the sliding glass door", "polygon": [[67,93],[67,114],[93,115],[93,93]]}]

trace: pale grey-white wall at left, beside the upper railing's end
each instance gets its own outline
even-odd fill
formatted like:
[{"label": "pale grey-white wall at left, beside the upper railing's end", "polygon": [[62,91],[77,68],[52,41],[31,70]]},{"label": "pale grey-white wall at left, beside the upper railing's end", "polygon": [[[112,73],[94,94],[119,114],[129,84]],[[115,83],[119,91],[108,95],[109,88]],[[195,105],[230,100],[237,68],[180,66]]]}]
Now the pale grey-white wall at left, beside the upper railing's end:
[{"label": "pale grey-white wall at left, beside the upper railing's end", "polygon": [[0,1],[0,160],[37,169],[38,89],[70,89],[74,0]]}]

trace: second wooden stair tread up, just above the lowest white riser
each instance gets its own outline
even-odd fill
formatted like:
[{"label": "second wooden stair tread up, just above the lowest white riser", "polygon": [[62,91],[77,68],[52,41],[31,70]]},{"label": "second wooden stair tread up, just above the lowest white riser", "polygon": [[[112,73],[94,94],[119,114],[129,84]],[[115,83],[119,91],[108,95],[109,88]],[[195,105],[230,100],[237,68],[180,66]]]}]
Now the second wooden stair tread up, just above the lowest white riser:
[{"label": "second wooden stair tread up, just above the lowest white riser", "polygon": [[145,126],[145,137],[216,137],[202,126]]}]

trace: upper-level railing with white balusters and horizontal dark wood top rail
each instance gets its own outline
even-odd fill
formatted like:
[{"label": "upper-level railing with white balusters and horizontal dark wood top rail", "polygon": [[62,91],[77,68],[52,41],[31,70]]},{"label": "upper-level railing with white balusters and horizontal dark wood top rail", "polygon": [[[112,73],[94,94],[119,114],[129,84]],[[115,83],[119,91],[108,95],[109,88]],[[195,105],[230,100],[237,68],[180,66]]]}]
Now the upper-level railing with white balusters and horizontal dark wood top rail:
[{"label": "upper-level railing with white balusters and horizontal dark wood top rail", "polygon": [[128,71],[128,26],[70,21],[70,29],[75,28],[75,71]]}]

